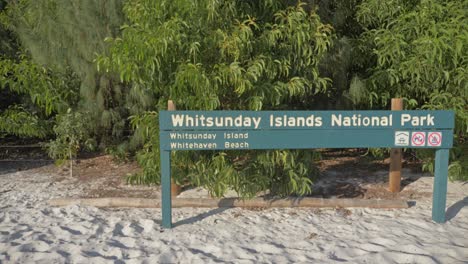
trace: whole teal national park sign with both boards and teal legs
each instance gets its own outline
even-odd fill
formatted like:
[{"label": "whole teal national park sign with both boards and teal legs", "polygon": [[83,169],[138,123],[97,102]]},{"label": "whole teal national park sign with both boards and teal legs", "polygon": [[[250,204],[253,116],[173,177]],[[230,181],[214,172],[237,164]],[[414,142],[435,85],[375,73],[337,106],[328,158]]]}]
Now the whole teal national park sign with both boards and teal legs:
[{"label": "whole teal national park sign with both boards and teal legs", "polygon": [[433,148],[432,218],[445,222],[452,111],[161,111],[162,225],[172,227],[170,151]]}]

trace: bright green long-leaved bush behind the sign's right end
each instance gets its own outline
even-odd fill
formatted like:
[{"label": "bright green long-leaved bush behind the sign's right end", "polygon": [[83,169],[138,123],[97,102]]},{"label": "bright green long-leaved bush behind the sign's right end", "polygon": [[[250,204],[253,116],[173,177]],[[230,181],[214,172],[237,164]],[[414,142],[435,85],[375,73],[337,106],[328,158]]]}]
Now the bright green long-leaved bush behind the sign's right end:
[{"label": "bright green long-leaved bush behind the sign's right end", "polygon": [[[371,55],[374,66],[364,79],[356,77],[351,100],[382,107],[390,98],[404,97],[408,108],[455,110],[454,151],[466,151],[467,9],[464,0],[363,1],[357,13],[365,28],[359,48]],[[423,169],[433,168],[433,152],[417,151],[417,155],[425,160]],[[460,157],[451,155],[456,161],[451,171],[466,175],[468,167]]]}]

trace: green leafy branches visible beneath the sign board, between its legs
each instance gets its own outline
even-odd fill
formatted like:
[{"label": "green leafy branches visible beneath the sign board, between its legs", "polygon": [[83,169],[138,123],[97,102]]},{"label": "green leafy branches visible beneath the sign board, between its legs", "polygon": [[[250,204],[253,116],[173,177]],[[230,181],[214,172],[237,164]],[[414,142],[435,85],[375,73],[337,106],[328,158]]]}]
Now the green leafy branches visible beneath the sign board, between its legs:
[{"label": "green leafy branches visible beneath the sign board, between its legs", "polygon": [[317,174],[313,161],[311,152],[305,151],[221,152],[176,164],[174,174],[187,174],[189,182],[207,187],[213,196],[222,196],[229,188],[241,197],[266,190],[271,195],[305,195],[311,193]]}]

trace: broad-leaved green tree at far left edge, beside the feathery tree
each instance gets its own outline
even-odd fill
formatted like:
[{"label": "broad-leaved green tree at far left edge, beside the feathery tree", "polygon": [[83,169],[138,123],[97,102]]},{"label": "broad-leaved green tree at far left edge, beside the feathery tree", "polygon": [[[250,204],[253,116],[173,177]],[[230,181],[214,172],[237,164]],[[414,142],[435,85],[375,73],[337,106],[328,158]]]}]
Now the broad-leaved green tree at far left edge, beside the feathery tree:
[{"label": "broad-leaved green tree at far left edge, beside the feathery tree", "polygon": [[[0,1],[0,12],[6,6]],[[53,72],[21,53],[8,17],[0,15],[0,136],[45,138],[52,134],[52,115],[77,100],[68,89],[68,71]],[[65,89],[65,87],[67,87]]]}]

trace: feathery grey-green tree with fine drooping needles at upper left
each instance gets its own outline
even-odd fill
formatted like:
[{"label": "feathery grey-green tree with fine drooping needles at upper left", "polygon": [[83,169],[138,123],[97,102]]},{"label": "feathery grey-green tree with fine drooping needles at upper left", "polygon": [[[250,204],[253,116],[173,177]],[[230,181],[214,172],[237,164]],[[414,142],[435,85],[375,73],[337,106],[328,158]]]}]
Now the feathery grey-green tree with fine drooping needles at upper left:
[{"label": "feathery grey-green tree with fine drooping needles at upper left", "polygon": [[[79,91],[80,102],[73,109],[88,111],[92,125],[87,127],[100,136],[102,144],[123,135],[125,87],[113,76],[98,73],[94,64],[96,54],[106,51],[104,39],[117,35],[123,23],[122,0],[10,1],[1,19],[34,63],[53,69],[54,74],[73,73],[77,82],[57,89]],[[37,82],[31,80],[33,85]],[[61,108],[61,113],[68,109]]]}]

